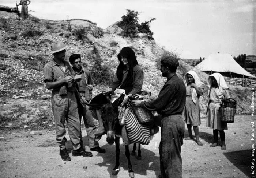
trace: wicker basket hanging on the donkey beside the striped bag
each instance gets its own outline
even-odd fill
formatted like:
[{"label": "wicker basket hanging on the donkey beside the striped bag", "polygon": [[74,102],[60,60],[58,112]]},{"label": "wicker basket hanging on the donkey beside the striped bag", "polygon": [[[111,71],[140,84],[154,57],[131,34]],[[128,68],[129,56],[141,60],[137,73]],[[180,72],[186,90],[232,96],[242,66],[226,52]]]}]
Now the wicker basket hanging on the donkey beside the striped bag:
[{"label": "wicker basket hanging on the donkey beside the striped bag", "polygon": [[151,111],[145,110],[142,107],[132,106],[132,110],[140,124],[151,127],[154,122],[154,115]]}]

